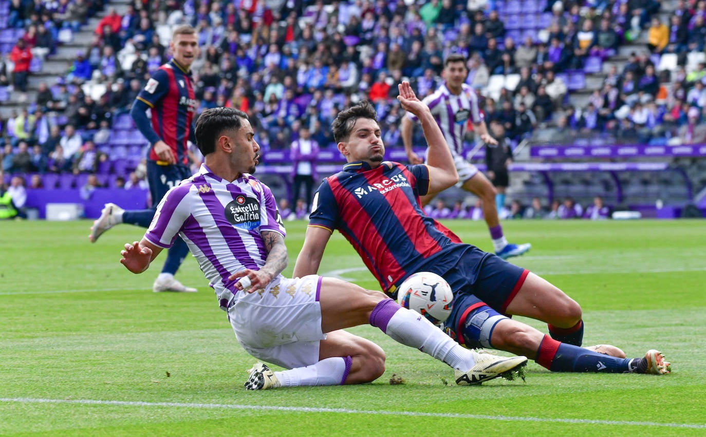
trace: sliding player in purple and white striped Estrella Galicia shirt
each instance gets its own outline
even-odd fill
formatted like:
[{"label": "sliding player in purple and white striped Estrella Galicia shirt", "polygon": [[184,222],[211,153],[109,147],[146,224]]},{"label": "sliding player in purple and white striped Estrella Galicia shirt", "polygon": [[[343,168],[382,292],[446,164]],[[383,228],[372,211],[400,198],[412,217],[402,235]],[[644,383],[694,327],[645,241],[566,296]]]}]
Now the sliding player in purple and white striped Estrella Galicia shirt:
[{"label": "sliding player in purple and white striped Estrella Galicia shirt", "polygon": [[288,369],[273,372],[256,364],[246,388],[374,381],[385,370],[385,353],[343,330],[365,323],[452,366],[461,384],[525,365],[525,357],[460,347],[381,292],[330,277],[282,276],[285,228],[270,188],[252,176],[260,157],[254,136],[244,112],[204,111],[196,122],[196,144],[205,157],[201,169],[167,192],[143,239],[126,244],[120,261],[142,273],[177,234],[186,241],[241,346]]}]

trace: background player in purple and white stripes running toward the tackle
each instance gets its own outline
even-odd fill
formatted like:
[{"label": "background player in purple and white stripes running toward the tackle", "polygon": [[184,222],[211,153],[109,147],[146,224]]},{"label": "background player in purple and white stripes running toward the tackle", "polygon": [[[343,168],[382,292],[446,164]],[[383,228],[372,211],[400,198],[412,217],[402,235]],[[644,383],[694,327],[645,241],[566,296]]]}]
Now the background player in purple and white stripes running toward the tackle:
[{"label": "background player in purple and white stripes running toward the tackle", "polygon": [[[511,256],[520,256],[529,251],[532,245],[529,243],[512,244],[505,239],[503,227],[500,225],[500,219],[498,218],[498,206],[501,205],[496,205],[498,202],[503,202],[505,196],[499,195],[488,178],[479,172],[476,166],[465,160],[462,155],[463,137],[465,136],[469,119],[481,140],[493,145],[498,144],[496,139],[488,133],[484,116],[478,107],[476,92],[464,83],[466,76],[468,76],[465,57],[460,54],[448,56],[444,61],[443,73],[446,82],[436,92],[426,97],[423,102],[429,106],[436,124],[439,125],[444,138],[446,138],[446,143],[450,148],[460,179],[458,186],[481,199],[483,217],[488,225],[491,239],[493,240],[493,250],[496,255],[503,259]],[[402,136],[402,142],[405,144],[405,151],[410,164],[421,164],[424,162],[412,150],[412,128],[414,128],[414,122],[416,121],[417,117],[408,113],[407,116],[402,118],[402,126],[400,126],[400,135]],[[427,160],[429,160],[430,153],[431,150],[428,150]],[[421,196],[421,204],[426,205],[434,196],[436,196],[436,193]]]}]

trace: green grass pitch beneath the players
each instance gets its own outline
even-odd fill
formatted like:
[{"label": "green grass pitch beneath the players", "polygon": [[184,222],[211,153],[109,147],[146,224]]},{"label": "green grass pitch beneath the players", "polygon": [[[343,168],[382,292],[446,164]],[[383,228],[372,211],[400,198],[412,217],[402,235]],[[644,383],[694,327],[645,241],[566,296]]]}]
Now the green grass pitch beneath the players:
[{"label": "green grass pitch beneath the players", "polygon": [[[445,224],[491,249],[484,223]],[[263,392],[244,390],[256,360],[193,258],[178,277],[198,293],[155,294],[162,259],[143,275],[118,262],[144,230],[120,225],[90,244],[89,226],[0,223],[0,435],[706,435],[705,220],[503,222],[511,241],[532,243],[513,263],[582,305],[585,345],[661,349],[670,375],[530,361],[525,383],[461,387],[448,366],[362,326],[351,331],[388,355],[378,381]],[[304,229],[287,223],[287,275]],[[320,273],[378,287],[340,234]],[[393,373],[405,383],[390,385]]]}]

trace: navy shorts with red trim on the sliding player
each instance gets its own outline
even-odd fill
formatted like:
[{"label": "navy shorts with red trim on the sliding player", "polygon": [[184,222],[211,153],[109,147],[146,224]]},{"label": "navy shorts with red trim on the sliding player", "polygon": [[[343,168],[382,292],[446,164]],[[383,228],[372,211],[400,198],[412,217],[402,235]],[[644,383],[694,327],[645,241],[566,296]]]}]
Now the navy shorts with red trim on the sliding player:
[{"label": "navy shorts with red trim on the sliding player", "polygon": [[453,256],[457,258],[455,265],[439,273],[454,293],[453,308],[444,330],[462,342],[462,337],[456,333],[467,314],[484,305],[504,314],[530,271],[470,245]]}]

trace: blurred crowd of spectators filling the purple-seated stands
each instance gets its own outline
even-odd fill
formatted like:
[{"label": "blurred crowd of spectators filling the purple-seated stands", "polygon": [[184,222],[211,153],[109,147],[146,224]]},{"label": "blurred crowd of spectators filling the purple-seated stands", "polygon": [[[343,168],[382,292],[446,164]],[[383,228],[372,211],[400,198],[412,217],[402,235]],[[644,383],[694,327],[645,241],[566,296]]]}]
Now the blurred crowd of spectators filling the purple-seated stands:
[{"label": "blurred crowd of spectators filling the purple-seated stands", "polygon": [[[443,83],[451,53],[467,56],[467,83],[486,119],[500,121],[515,143],[538,126],[550,126],[559,142],[706,140],[706,64],[694,61],[706,40],[705,0],[678,0],[669,23],[659,20],[657,0],[135,0],[123,15],[105,6],[66,74],[39,85],[36,101],[3,121],[5,174],[108,169],[117,174],[102,176],[105,183],[126,179],[145,148],[131,148],[138,157],[117,171],[125,154],[110,141],[132,129],[126,113],[169,59],[169,28],[181,23],[198,30],[202,47],[192,66],[198,112],[244,110],[265,150],[286,150],[301,126],[321,148],[335,148],[331,121],[363,99],[375,104],[388,148],[400,147],[395,84],[409,78],[419,97],[428,95]],[[51,59],[61,29],[85,28],[103,9],[100,0],[11,0],[6,25],[23,35],[1,63],[0,88],[24,91],[27,58]],[[614,66],[586,107],[568,104],[572,72],[589,71],[640,35],[649,40],[644,54],[622,71]],[[659,71],[666,55],[674,64]],[[516,81],[486,92],[497,75]],[[424,144],[421,129],[415,136]],[[128,138],[121,145],[146,145]]]}]

